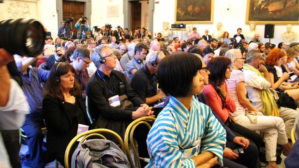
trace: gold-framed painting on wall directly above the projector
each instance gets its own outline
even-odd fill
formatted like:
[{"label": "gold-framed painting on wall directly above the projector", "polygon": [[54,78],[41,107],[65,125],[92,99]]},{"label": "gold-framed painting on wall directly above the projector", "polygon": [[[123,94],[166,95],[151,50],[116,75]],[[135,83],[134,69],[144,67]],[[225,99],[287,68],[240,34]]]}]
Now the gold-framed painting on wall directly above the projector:
[{"label": "gold-framed painting on wall directly above the projector", "polygon": [[213,23],[214,0],[175,0],[175,23]]}]

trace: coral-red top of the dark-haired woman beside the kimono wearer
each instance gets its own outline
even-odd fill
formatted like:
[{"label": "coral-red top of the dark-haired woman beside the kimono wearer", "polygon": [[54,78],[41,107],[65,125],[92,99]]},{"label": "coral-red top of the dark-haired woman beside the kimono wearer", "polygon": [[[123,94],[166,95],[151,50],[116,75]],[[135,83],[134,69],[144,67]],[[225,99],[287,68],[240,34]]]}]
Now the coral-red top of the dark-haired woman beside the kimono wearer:
[{"label": "coral-red top of the dark-haired woman beside the kimono wearer", "polygon": [[208,105],[216,112],[216,114],[225,122],[228,118],[229,112],[235,112],[236,104],[234,100],[229,95],[227,85],[224,83],[227,96],[225,99],[225,107],[222,109],[222,101],[220,96],[217,94],[215,88],[212,84],[205,85],[203,88],[203,93],[206,98]]}]

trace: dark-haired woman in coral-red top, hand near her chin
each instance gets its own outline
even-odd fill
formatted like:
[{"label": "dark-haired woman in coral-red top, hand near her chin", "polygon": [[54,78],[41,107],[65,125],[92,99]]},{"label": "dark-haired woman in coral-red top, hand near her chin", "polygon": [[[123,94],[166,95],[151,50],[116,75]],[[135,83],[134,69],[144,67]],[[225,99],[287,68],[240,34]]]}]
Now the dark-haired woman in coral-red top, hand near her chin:
[{"label": "dark-haired woman in coral-red top, hand near her chin", "polygon": [[262,137],[256,132],[234,123],[230,117],[230,113],[236,111],[236,104],[231,98],[225,82],[230,78],[232,71],[231,60],[226,57],[216,57],[208,63],[207,68],[210,71],[209,84],[205,85],[203,89],[207,104],[232,131],[252,140],[260,149]]}]

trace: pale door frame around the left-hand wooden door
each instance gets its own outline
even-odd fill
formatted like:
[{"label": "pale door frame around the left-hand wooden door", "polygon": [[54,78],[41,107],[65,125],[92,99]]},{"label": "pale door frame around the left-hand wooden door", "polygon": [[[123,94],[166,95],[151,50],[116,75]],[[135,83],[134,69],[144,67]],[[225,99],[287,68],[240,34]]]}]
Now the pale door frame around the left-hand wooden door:
[{"label": "pale door frame around the left-hand wooden door", "polygon": [[[66,1],[73,1],[73,2],[83,2],[84,4],[84,16],[88,18],[88,24],[91,25],[91,0],[66,0]],[[56,0],[56,10],[57,10],[57,17],[58,17],[58,27],[61,25],[62,17],[63,17],[63,8],[62,8],[62,0]],[[77,20],[74,20],[75,22]]]}]

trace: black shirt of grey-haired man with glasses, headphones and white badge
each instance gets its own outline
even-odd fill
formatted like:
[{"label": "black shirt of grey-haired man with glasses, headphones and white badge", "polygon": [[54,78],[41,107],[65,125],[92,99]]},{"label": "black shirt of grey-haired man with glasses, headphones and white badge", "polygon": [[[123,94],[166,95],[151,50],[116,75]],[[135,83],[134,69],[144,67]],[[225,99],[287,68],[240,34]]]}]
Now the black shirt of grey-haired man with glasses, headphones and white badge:
[{"label": "black shirt of grey-haired man with glasses, headphones and white badge", "polygon": [[[96,128],[113,130],[122,138],[127,126],[132,122],[132,112],[145,103],[128,84],[125,75],[115,70],[112,70],[110,77],[97,70],[88,81],[86,94]],[[109,105],[110,97],[124,94],[133,103],[133,108],[120,109]]]}]

